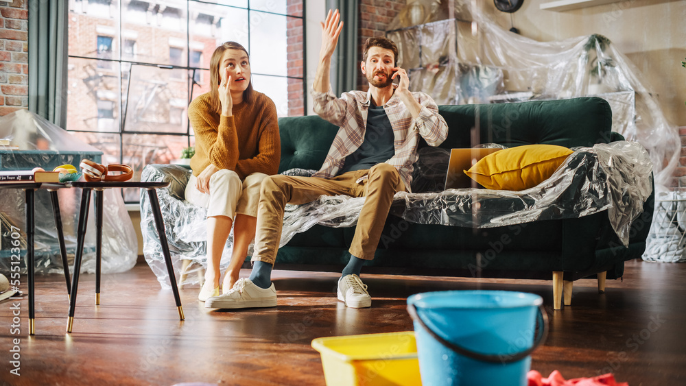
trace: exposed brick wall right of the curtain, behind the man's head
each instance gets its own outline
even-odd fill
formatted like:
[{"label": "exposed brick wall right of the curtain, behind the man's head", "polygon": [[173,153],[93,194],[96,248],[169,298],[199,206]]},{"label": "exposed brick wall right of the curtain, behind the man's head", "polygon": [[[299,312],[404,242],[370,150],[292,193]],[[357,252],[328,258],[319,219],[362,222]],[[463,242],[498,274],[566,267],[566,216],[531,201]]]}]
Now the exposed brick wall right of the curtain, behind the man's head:
[{"label": "exposed brick wall right of the curtain, behind the man's head", "polygon": [[[359,1],[359,49],[357,58],[362,60],[362,45],[367,38],[386,36],[386,27],[407,4],[406,0],[360,0]],[[366,91],[367,80],[359,66],[357,71],[357,89]]]}]

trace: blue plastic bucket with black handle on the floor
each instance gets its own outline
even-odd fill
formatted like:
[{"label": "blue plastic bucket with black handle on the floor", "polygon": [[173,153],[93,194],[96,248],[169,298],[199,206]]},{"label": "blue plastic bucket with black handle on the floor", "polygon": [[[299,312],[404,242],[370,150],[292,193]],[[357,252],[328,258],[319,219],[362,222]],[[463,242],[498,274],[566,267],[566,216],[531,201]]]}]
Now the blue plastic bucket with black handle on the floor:
[{"label": "blue plastic bucket with black handle on the floor", "polygon": [[512,291],[440,291],[407,298],[422,384],[527,385],[530,354],[547,333],[541,304],[539,295]]}]

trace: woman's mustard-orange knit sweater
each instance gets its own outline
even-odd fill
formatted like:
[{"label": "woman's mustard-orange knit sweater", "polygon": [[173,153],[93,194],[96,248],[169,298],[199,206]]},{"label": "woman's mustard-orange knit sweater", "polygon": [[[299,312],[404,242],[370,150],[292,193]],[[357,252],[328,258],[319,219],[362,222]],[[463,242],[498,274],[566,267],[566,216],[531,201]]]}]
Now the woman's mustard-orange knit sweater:
[{"label": "woman's mustard-orange knit sweater", "polygon": [[243,180],[250,173],[267,175],[279,171],[281,141],[276,106],[267,95],[254,91],[252,103],[233,106],[233,116],[224,117],[211,109],[209,93],[193,99],[188,119],[196,134],[196,154],[191,158],[193,176],[210,163],[238,173]]}]

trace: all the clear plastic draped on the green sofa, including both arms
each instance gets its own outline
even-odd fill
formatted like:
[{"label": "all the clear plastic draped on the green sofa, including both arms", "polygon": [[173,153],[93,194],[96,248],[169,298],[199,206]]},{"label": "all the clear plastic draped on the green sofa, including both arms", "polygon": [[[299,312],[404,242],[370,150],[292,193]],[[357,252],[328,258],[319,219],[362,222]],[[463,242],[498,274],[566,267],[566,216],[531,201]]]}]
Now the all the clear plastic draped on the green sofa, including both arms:
[{"label": "all the clear plastic draped on the green sofa, including both arms", "polygon": [[[429,154],[432,156],[435,155]],[[422,168],[421,159],[416,164],[419,169]],[[427,169],[427,165],[423,168],[414,175],[423,173],[425,180],[445,182],[445,169]],[[652,193],[651,171],[648,152],[639,143],[616,141],[577,147],[549,179],[532,189],[519,192],[488,189],[401,192],[395,195],[390,213],[418,224],[493,228],[576,218],[606,210],[618,239],[626,245],[631,221],[642,212],[643,202]],[[285,173],[308,176],[314,171],[294,169]],[[183,200],[189,176],[189,170],[174,165],[148,165],[142,177],[146,181],[171,182],[169,189],[158,189],[158,197],[176,272],[180,269],[180,259],[194,262],[187,271],[189,276],[179,282],[182,285],[198,283],[200,279],[195,273],[205,265],[206,210]],[[297,206],[289,204],[285,208],[279,246],[316,224],[335,228],[355,226],[363,204],[364,197],[340,195],[321,196],[314,202]],[[168,288],[161,245],[145,195],[141,195],[141,230],[145,260],[162,287]],[[229,236],[220,263],[222,269],[228,265],[232,243],[233,237]],[[252,246],[248,251],[251,253]]]}]

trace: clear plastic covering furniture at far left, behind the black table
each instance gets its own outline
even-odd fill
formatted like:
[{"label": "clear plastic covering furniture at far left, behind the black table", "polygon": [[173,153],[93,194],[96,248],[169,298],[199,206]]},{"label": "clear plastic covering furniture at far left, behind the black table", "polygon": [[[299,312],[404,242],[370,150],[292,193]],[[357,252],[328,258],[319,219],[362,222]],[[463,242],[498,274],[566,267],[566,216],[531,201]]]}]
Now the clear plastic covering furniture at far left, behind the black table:
[{"label": "clear plastic covering furniture at far left, behind the black table", "polygon": [[[10,145],[0,149],[0,170],[19,170],[43,167],[52,170],[63,164],[78,167],[82,158],[99,162],[102,152],[83,143],[66,130],[27,110],[17,110],[0,117],[0,139]],[[70,267],[76,249],[78,214],[81,189],[59,189],[58,199],[62,215],[64,243]],[[81,272],[95,273],[95,210],[91,199],[88,211],[88,228],[84,241]],[[138,238],[131,218],[124,206],[119,189],[104,191],[102,226],[102,269],[104,274],[125,272],[136,265]],[[26,249],[26,215],[24,192],[20,189],[3,189],[0,195],[0,232],[2,252],[0,271],[10,271],[10,233],[12,226],[21,230],[22,256]],[[49,193],[36,191],[34,200],[34,255],[36,273],[62,273],[62,258],[55,228],[54,211]],[[22,260],[24,261],[24,260]],[[22,272],[26,267],[22,265]]]}]

